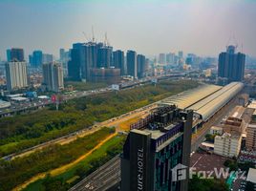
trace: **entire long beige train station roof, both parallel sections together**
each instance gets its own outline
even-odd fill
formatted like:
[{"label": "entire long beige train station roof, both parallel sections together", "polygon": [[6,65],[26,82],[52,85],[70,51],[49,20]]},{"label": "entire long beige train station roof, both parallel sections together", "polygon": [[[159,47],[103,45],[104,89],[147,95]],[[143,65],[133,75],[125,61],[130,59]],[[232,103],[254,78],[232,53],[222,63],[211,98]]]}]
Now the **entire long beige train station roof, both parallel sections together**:
[{"label": "entire long beige train station roof, both parallel sections together", "polygon": [[241,82],[232,82],[224,87],[203,84],[198,88],[165,98],[160,104],[193,110],[203,121],[206,121],[237,96],[243,88],[244,84]]}]

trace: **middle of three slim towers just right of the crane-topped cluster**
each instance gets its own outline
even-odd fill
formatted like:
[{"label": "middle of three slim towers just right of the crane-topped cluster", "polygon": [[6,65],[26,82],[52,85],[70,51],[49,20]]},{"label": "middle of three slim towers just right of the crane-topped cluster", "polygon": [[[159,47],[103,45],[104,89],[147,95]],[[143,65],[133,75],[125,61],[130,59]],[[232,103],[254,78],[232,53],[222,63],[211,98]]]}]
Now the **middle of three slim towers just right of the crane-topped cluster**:
[{"label": "middle of three slim towers just right of the crane-topped cluster", "polygon": [[127,74],[134,76],[134,78],[137,78],[137,53],[135,51],[127,51],[126,60]]}]

